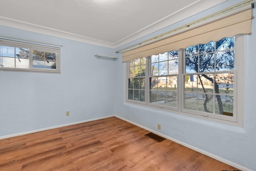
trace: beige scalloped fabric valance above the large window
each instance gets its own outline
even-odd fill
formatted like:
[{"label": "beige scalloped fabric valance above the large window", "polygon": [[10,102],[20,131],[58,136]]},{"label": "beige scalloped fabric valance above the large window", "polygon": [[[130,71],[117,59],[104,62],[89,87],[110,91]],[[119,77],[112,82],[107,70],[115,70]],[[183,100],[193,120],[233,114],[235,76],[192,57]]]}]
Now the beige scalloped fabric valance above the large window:
[{"label": "beige scalloped fabric valance above the large window", "polygon": [[224,37],[233,37],[237,34],[251,34],[252,8],[239,11],[236,14],[218,19],[216,21],[180,32],[163,40],[140,46],[123,52],[123,62],[151,55],[163,54],[180,48],[187,48],[196,44],[206,44],[218,41]]}]

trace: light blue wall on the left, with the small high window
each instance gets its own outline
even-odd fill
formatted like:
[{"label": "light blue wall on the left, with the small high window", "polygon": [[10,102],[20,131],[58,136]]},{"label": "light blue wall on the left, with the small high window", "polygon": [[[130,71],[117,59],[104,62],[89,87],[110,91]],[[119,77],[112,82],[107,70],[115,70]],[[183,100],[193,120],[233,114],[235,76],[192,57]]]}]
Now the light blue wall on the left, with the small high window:
[{"label": "light blue wall on the left, with the small high window", "polygon": [[4,26],[0,34],[63,46],[61,74],[0,71],[0,136],[114,114],[116,61],[94,56],[113,49]]}]

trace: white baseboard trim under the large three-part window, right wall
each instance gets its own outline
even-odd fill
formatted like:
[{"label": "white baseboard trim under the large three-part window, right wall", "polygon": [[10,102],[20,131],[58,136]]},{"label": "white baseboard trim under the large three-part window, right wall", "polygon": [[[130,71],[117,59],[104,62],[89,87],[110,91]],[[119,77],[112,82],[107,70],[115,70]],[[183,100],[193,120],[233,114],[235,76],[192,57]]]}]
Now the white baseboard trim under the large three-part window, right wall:
[{"label": "white baseboard trim under the large three-part window, right wall", "polygon": [[174,138],[172,138],[172,137],[166,136],[166,135],[164,135],[164,134],[162,134],[162,133],[159,133],[159,132],[157,132],[157,131],[154,131],[154,130],[148,128],[148,127],[144,127],[144,126],[142,126],[142,125],[140,125],[140,124],[138,124],[138,123],[135,123],[135,122],[133,122],[133,121],[130,121],[130,120],[125,119],[125,118],[123,118],[123,117],[120,117],[120,116],[118,116],[118,115],[114,115],[114,116],[115,116],[115,117],[118,117],[119,119],[122,119],[122,120],[124,120],[124,121],[127,121],[127,122],[129,122],[129,123],[132,123],[133,125],[136,125],[136,126],[138,126],[138,127],[141,127],[141,128],[143,128],[143,129],[146,129],[146,130],[148,130],[148,131],[150,131],[150,132],[152,132],[152,133],[155,133],[155,134],[157,134],[157,135],[160,135],[160,136],[162,136],[162,137],[164,137],[164,138],[166,138],[166,139],[169,139],[169,140],[171,140],[171,141],[174,141],[174,142],[176,142],[176,143],[178,143],[178,144],[180,144],[180,145],[184,145],[185,147],[188,147],[188,148],[190,148],[190,149],[192,149],[192,150],[194,150],[194,151],[197,151],[197,152],[199,152],[199,153],[202,153],[202,154],[204,154],[204,155],[207,155],[207,156],[209,156],[209,157],[212,157],[213,159],[216,159],[216,160],[218,160],[218,161],[221,161],[221,162],[223,162],[223,163],[226,163],[226,164],[228,164],[228,165],[230,165],[230,166],[236,167],[236,168],[238,168],[238,169],[240,169],[240,170],[243,170],[243,171],[252,171],[252,170],[250,170],[250,169],[248,169],[248,168],[246,168],[246,167],[243,167],[243,166],[241,166],[241,165],[238,165],[238,164],[236,164],[236,163],[233,163],[233,162],[231,162],[231,161],[228,161],[228,160],[226,160],[226,159],[223,159],[223,158],[221,158],[221,157],[218,157],[218,156],[216,156],[216,155],[214,155],[214,154],[212,154],[212,153],[209,153],[209,152],[207,152],[207,151],[204,151],[204,150],[202,150],[202,149],[199,149],[199,148],[197,148],[197,147],[194,147],[194,146],[192,146],[192,145],[189,145],[189,144],[187,144],[187,143],[184,143],[184,142],[179,141],[179,140],[177,140],[177,139],[174,139]]}]

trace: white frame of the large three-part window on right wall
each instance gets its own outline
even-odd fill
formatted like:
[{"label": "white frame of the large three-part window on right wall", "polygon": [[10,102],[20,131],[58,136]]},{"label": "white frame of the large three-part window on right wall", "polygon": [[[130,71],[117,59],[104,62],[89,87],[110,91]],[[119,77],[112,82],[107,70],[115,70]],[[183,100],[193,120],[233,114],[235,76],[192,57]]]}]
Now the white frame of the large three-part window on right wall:
[{"label": "white frame of the large three-part window on right wall", "polygon": [[[172,107],[164,107],[161,105],[152,105],[149,103],[149,75],[151,63],[150,59],[146,60],[146,78],[145,78],[145,103],[141,103],[148,107],[158,108],[164,111],[172,111],[173,113],[178,113],[182,115],[192,116],[200,119],[205,119],[208,121],[214,121],[218,123],[224,123],[228,125],[234,125],[237,127],[243,127],[243,74],[244,74],[244,36],[237,35],[235,36],[235,70],[234,70],[234,114],[233,116],[226,115],[204,115],[204,112],[192,111],[188,109],[184,109],[184,75],[183,68],[185,67],[185,60],[183,56],[185,54],[185,49],[178,50],[179,54],[179,74],[177,81],[177,108],[173,109]],[[129,68],[129,62],[127,62],[127,68]],[[128,72],[128,70],[126,70]],[[196,75],[196,73],[195,73]],[[128,75],[127,75],[128,76]],[[239,80],[239,81],[238,81]],[[128,77],[126,78],[126,85],[128,86]],[[239,90],[239,91],[238,91]],[[128,92],[128,87],[126,88]],[[128,95],[128,93],[126,93]],[[127,102],[138,103],[138,101],[128,100],[128,96],[126,97]],[[206,113],[207,114],[207,113]]]}]

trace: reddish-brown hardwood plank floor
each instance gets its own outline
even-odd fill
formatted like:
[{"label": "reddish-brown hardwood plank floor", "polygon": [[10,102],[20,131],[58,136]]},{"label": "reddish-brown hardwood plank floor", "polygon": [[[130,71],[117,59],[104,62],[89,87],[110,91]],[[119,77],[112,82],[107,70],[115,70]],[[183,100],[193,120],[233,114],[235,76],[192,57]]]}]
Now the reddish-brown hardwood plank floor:
[{"label": "reddish-brown hardwood plank floor", "polygon": [[117,117],[0,140],[4,171],[234,171]]}]

